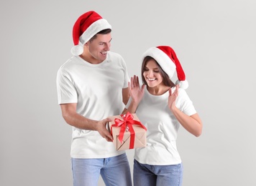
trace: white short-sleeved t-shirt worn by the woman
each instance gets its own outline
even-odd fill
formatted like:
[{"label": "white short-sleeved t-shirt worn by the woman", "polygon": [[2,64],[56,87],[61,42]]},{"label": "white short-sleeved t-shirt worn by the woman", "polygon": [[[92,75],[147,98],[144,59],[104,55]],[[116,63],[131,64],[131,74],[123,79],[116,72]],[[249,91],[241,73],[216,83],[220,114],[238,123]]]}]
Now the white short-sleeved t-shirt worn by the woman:
[{"label": "white short-sleeved t-shirt worn by the woman", "polygon": [[[134,153],[134,159],[142,164],[175,165],[181,162],[176,147],[180,123],[168,107],[168,96],[169,92],[152,95],[145,87],[145,95],[137,107],[137,117],[147,127],[147,146],[135,149]],[[184,89],[179,89],[176,106],[187,115],[196,114]]]}]

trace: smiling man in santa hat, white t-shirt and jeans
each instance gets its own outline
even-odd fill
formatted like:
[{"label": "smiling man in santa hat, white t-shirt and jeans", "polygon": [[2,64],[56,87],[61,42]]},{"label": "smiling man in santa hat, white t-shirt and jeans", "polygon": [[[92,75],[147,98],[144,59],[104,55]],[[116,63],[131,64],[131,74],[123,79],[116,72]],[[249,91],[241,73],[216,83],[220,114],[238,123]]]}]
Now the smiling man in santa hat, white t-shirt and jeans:
[{"label": "smiling man in santa hat, white t-shirt and jeans", "polygon": [[65,122],[73,126],[73,185],[132,185],[124,151],[117,152],[107,117],[121,114],[129,99],[124,59],[110,52],[111,25],[95,11],[73,26],[73,57],[58,70],[57,89]]}]

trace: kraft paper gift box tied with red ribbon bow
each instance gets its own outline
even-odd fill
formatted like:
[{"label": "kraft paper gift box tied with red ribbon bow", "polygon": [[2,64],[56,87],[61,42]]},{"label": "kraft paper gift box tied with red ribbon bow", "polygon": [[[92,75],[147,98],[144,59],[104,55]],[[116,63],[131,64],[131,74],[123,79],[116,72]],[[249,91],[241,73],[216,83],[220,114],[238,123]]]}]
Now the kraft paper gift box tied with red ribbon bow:
[{"label": "kraft paper gift box tied with red ribbon bow", "polygon": [[116,150],[129,150],[146,147],[147,129],[136,114],[121,114],[109,117],[107,127],[113,136]]}]

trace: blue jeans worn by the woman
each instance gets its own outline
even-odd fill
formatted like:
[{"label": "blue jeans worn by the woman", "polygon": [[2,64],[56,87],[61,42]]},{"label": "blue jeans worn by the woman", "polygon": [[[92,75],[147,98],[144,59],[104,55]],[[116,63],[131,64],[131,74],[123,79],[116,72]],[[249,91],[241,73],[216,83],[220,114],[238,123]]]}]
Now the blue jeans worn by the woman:
[{"label": "blue jeans worn by the woman", "polygon": [[134,186],[181,186],[183,165],[147,165],[134,160]]}]

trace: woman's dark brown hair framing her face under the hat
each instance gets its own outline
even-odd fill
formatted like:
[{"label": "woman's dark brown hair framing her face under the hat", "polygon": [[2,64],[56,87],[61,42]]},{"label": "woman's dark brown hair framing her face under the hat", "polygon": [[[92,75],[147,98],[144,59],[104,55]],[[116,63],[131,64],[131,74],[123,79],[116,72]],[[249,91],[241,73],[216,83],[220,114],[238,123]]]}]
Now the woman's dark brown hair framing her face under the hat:
[{"label": "woman's dark brown hair framing her face under the hat", "polygon": [[[157,63],[157,61],[150,56],[145,57],[142,62],[142,69],[141,69],[142,82],[146,85],[147,85],[147,81],[146,81],[145,77],[143,76],[143,73],[145,72],[145,67],[147,65],[147,62],[149,62],[151,59],[153,59]],[[165,86],[168,86],[168,87],[175,87],[175,84],[170,80],[168,74],[166,74],[163,71],[163,69],[160,67],[160,65],[158,63],[157,63],[157,66],[159,68],[161,76],[163,77],[163,84],[165,84]]]}]

